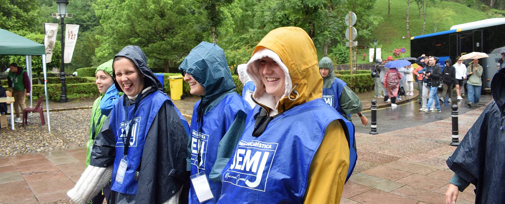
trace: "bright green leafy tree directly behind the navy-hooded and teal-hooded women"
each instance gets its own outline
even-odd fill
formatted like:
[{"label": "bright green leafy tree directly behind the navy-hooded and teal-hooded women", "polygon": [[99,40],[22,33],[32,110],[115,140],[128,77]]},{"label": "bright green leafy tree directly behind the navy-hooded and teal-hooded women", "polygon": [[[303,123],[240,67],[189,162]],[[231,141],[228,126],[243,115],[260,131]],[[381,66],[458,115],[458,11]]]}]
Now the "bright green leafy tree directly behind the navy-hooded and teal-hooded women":
[{"label": "bright green leafy tree directly behind the navy-hooded and teal-hooded women", "polygon": [[126,45],[138,45],[149,58],[162,60],[165,71],[203,39],[196,3],[185,0],[97,0],[93,5],[103,29],[95,58],[105,62]]}]

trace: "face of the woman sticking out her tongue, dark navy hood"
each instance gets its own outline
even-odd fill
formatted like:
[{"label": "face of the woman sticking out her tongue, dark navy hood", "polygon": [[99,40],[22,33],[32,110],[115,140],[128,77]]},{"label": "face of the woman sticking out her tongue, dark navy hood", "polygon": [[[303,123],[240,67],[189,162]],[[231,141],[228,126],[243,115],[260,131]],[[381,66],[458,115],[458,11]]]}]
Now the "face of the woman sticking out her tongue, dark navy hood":
[{"label": "face of the woman sticking out her tongue, dark navy hood", "polygon": [[121,90],[127,96],[137,96],[144,87],[142,73],[133,61],[128,58],[120,58],[114,61],[114,75]]}]

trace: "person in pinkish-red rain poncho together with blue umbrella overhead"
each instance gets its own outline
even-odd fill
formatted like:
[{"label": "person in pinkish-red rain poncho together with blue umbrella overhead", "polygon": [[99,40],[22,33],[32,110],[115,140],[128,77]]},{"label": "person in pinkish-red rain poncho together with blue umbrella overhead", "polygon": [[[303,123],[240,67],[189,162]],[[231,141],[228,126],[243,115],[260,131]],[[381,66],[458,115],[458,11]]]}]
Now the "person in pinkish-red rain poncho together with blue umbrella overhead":
[{"label": "person in pinkish-red rain poncho together with blue umbrella overhead", "polygon": [[391,97],[391,107],[396,107],[396,97],[398,96],[398,90],[400,88],[401,74],[396,69],[397,67],[403,67],[410,65],[411,62],[407,60],[396,60],[387,62],[384,67],[389,68],[384,75],[383,83],[387,89],[389,97]]}]

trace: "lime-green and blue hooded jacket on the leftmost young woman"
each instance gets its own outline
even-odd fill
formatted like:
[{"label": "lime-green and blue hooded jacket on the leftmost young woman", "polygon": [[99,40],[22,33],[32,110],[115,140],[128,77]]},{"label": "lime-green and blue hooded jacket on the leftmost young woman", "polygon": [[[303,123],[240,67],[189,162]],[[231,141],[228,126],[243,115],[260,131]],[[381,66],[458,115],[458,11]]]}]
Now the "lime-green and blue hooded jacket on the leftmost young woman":
[{"label": "lime-green and blue hooded jacket on the leftmost young woman", "polygon": [[[112,61],[113,60],[111,59],[96,67],[95,74],[98,71],[104,71],[105,73],[112,76]],[[93,147],[94,139],[96,135],[98,135],[98,132],[100,132],[100,129],[102,129],[102,125],[104,125],[104,121],[107,119],[107,115],[109,115],[111,112],[114,103],[120,95],[122,95],[122,93],[119,93],[113,84],[105,94],[100,94],[100,96],[93,102],[93,108],[91,109],[91,119],[89,120],[89,141],[86,144],[86,166],[89,165],[89,155],[91,154],[91,147]],[[106,112],[107,115],[104,115],[102,112]]]}]

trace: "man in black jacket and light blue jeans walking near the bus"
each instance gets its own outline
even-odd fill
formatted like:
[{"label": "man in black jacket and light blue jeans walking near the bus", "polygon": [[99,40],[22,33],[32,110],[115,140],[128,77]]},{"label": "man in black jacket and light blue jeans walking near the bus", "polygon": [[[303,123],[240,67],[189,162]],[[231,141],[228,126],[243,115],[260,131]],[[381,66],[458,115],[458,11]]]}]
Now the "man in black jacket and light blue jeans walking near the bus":
[{"label": "man in black jacket and light blue jeans walking near the bus", "polygon": [[[428,86],[430,87],[430,98],[428,99],[428,104],[426,105],[426,108],[423,110],[424,112],[430,113],[430,111],[433,112],[440,112],[442,111],[440,109],[440,102],[438,101],[438,95],[437,95],[437,89],[438,86],[440,85],[440,79],[442,78],[442,70],[440,69],[440,66],[436,64],[437,59],[435,57],[430,56],[428,59],[428,66],[425,68],[425,79],[428,81]],[[433,104],[433,101],[435,102],[435,108],[433,109],[428,109],[431,107]]]}]

